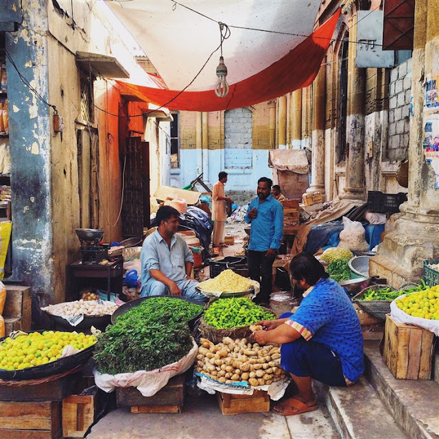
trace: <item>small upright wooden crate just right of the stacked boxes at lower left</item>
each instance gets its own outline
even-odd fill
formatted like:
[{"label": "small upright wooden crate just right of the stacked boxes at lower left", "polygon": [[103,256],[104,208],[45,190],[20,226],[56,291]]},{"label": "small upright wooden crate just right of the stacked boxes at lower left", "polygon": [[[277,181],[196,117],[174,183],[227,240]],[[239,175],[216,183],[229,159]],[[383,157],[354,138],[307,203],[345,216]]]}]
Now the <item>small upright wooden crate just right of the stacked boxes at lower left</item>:
[{"label": "small upright wooden crate just right of the stacked boxes at lower left", "polygon": [[70,395],[62,400],[62,436],[83,438],[104,404],[102,390],[95,385],[80,395]]}]

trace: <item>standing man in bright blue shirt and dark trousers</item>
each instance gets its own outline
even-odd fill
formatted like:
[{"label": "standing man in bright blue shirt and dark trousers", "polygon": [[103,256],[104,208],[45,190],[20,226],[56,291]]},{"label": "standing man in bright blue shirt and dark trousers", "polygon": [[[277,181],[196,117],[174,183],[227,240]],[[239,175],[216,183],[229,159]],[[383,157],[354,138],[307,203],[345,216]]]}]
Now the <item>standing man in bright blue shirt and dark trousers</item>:
[{"label": "standing man in bright blue shirt and dark trousers", "polygon": [[283,237],[282,204],[271,195],[272,180],[259,178],[257,198],[248,206],[246,222],[251,224],[248,244],[248,274],[261,283],[255,302],[268,305],[272,293],[272,265]]}]

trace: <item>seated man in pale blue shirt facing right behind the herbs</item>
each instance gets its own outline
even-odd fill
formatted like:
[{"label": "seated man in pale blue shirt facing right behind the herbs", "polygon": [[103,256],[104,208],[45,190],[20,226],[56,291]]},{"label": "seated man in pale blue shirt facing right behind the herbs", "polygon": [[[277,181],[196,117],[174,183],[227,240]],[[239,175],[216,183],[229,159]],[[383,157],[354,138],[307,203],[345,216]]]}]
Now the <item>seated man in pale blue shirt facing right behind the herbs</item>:
[{"label": "seated man in pale blue shirt facing right behind the herbs", "polygon": [[157,230],[143,241],[141,251],[141,297],[185,296],[206,301],[191,278],[193,254],[185,239],[176,235],[178,211],[162,206],[156,214]]}]

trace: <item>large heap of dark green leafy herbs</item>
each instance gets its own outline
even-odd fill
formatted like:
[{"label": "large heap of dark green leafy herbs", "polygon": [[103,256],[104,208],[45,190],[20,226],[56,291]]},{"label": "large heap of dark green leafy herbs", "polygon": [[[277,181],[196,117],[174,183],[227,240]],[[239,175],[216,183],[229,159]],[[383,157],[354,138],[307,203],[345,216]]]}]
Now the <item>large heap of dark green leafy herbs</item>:
[{"label": "large heap of dark green leafy herbs", "polygon": [[97,337],[99,372],[115,375],[174,363],[193,346],[187,321],[202,306],[168,297],[150,298],[119,316]]}]

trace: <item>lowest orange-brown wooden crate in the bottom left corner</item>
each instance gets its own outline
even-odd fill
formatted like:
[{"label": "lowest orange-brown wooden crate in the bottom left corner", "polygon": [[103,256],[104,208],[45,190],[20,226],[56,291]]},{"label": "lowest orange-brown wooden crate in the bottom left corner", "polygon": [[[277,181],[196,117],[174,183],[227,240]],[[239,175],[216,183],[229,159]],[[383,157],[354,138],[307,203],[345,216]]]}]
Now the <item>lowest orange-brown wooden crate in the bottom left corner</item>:
[{"label": "lowest orange-brown wooden crate in the bottom left corner", "polygon": [[0,402],[0,438],[57,439],[60,437],[60,402]]}]

